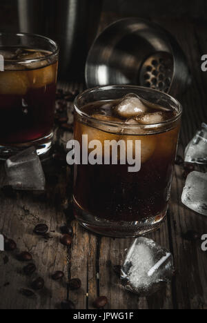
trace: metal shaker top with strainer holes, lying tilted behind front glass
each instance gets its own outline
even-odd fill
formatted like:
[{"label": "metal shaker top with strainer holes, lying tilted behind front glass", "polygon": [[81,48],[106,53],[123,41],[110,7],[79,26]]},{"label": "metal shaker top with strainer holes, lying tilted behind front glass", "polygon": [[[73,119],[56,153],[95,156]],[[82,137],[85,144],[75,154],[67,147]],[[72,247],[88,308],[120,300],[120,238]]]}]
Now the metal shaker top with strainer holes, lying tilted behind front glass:
[{"label": "metal shaker top with strainer holes, lying tilted behind front glass", "polygon": [[176,96],[189,79],[177,41],[157,24],[139,18],[121,19],[103,30],[86,62],[88,88],[132,84]]}]

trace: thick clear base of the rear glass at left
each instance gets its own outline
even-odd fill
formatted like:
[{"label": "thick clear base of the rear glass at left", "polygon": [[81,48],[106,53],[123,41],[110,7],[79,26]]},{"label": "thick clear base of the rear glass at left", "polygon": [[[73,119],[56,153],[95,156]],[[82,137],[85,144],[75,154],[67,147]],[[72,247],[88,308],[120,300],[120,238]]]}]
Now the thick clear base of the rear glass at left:
[{"label": "thick clear base of the rear glass at left", "polygon": [[43,156],[46,155],[50,148],[52,147],[52,138],[53,133],[50,135],[43,137],[38,140],[29,141],[23,144],[15,144],[15,145],[3,145],[0,144],[0,160],[6,160],[12,155],[19,153],[21,150],[25,150],[31,146],[34,146],[37,150],[37,155]]}]

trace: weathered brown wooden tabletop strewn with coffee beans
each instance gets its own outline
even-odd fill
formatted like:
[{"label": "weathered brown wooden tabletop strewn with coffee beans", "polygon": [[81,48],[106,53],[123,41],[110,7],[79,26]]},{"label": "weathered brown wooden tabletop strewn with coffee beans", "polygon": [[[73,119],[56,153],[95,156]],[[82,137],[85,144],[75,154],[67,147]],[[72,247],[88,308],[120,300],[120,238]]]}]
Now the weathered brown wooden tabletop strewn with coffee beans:
[{"label": "weathered brown wooden tabletop strewn with coffee beans", "polygon": [[[113,20],[115,17],[108,15],[102,25]],[[186,144],[207,117],[207,74],[201,72],[201,55],[207,53],[207,23],[189,19],[159,19],[158,22],[177,37],[193,75],[191,88],[181,97],[184,117],[179,155],[184,155]],[[59,86],[65,90],[83,88],[79,84]],[[70,112],[68,114],[71,117]],[[72,136],[59,128],[55,133],[62,146]],[[67,298],[76,304],[77,309],[92,309],[92,301],[97,295],[108,297],[106,309],[207,309],[206,253],[201,251],[201,240],[188,241],[183,237],[189,230],[197,231],[199,236],[207,233],[207,219],[181,204],[184,187],[181,166],[175,167],[168,219],[159,231],[149,235],[172,252],[176,274],[166,290],[152,297],[138,297],[124,291],[112,269],[113,265],[123,262],[133,239],[98,237],[72,221],[74,236],[71,248],[59,243],[60,226],[72,220],[71,211],[66,209],[71,196],[72,175],[66,165],[55,164],[45,166],[45,169],[47,188],[44,195],[8,194],[1,190],[0,232],[17,242],[18,251],[32,253],[37,273],[44,278],[46,288],[36,297],[21,295],[19,290],[29,288],[32,278],[23,275],[23,264],[17,261],[17,252],[1,252],[0,309],[58,309],[61,300]],[[49,226],[52,239],[34,235],[34,226],[39,222]],[[51,280],[50,275],[57,270],[66,275],[61,282]],[[70,277],[81,279],[79,291],[68,290]]]}]

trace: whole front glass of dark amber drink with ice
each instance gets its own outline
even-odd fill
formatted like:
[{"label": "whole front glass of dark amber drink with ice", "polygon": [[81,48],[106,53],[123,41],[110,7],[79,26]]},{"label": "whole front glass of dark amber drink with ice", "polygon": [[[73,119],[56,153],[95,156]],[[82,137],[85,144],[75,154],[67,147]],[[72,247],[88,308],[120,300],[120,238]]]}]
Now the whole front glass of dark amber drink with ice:
[{"label": "whole front glass of dark amber drink with ice", "polygon": [[[148,101],[140,107],[141,98]],[[178,102],[155,90],[115,86],[85,92],[75,105],[75,139],[81,143],[83,135],[88,135],[88,142],[99,140],[102,148],[96,153],[103,159],[102,164],[75,165],[77,219],[86,228],[110,236],[130,237],[155,230],[168,209],[180,128]],[[125,153],[140,159],[139,170],[129,171],[128,163],[121,163],[121,148],[117,164],[112,164],[113,145],[120,140],[128,147]],[[112,141],[107,150],[110,164],[104,163],[105,141]],[[136,142],[141,145],[137,155]]]}]

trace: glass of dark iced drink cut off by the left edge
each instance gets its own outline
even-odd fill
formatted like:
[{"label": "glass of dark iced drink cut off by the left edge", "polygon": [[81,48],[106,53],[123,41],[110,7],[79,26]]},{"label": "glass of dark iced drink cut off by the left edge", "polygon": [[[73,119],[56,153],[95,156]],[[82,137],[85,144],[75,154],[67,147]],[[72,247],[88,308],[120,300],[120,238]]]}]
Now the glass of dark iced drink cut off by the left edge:
[{"label": "glass of dark iced drink cut off by the left edge", "polygon": [[[39,47],[32,48],[27,37],[33,37],[33,46],[37,43]],[[0,72],[1,154],[32,145],[40,154],[46,153],[52,140],[58,50],[44,37],[19,38],[26,46],[0,47],[4,59]],[[50,43],[48,48],[44,41]]]}]

